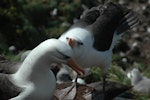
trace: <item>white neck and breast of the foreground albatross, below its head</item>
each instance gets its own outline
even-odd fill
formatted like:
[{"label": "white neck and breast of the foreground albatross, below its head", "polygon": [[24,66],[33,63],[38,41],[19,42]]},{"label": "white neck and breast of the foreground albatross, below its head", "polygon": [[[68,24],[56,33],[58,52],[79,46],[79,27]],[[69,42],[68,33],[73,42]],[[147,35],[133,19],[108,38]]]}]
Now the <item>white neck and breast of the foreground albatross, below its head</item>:
[{"label": "white neck and breast of the foreground albatross, below its head", "polygon": [[43,52],[45,50],[44,47],[35,48],[34,52],[27,56],[21,68],[12,75],[13,83],[25,89],[12,100],[49,100],[51,98],[56,80],[50,70],[50,64],[53,61]]}]

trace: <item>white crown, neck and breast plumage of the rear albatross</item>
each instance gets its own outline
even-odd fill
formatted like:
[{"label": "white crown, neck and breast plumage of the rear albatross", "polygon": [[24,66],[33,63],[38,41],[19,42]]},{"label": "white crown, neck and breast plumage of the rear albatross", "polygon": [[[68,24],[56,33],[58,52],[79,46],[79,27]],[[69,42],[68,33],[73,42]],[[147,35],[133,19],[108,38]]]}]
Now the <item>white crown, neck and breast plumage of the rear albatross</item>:
[{"label": "white crown, neck and breast plumage of the rear albatross", "polygon": [[[82,67],[91,67],[91,66],[105,66],[103,71],[105,72],[106,67],[109,67],[111,62],[112,50],[99,52],[93,48],[94,38],[92,34],[83,28],[73,28],[63,34],[59,40],[67,42],[67,37],[73,38],[77,42],[73,47],[73,56]],[[82,42],[83,45],[80,45],[78,42]]]}]

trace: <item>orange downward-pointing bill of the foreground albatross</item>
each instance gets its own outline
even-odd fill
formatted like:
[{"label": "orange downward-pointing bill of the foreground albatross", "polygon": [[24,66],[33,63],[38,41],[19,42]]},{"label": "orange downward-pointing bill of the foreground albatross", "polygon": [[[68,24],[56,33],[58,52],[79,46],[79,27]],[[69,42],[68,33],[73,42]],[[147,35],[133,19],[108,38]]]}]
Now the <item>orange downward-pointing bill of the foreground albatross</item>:
[{"label": "orange downward-pointing bill of the foreground albatross", "polygon": [[73,70],[75,70],[79,75],[84,75],[85,74],[84,69],[79,67],[73,59],[70,59],[67,62],[67,65],[69,65],[69,67],[71,67]]}]

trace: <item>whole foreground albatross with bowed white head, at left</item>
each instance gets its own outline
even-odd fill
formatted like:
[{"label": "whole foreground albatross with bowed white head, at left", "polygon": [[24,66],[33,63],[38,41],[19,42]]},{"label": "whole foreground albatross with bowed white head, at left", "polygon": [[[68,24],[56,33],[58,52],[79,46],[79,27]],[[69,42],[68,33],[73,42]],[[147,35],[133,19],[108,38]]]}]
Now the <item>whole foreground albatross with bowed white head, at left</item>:
[{"label": "whole foreground albatross with bowed white head, at left", "polygon": [[[64,63],[78,73],[84,73],[73,61],[72,53],[70,45],[57,39],[48,39],[39,44],[26,57],[16,73],[0,74],[5,81],[4,84],[0,82],[3,89],[6,89],[5,85],[9,84],[9,86],[6,86],[6,91],[9,91],[9,89],[20,91],[18,95],[15,94],[15,97],[5,100],[50,100],[56,87],[55,76],[50,70],[52,63]],[[2,81],[2,78],[0,81]]]}]

